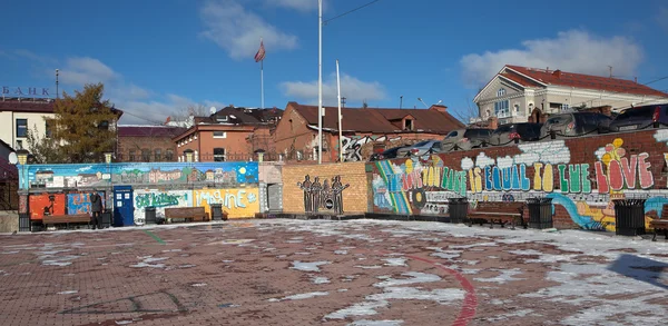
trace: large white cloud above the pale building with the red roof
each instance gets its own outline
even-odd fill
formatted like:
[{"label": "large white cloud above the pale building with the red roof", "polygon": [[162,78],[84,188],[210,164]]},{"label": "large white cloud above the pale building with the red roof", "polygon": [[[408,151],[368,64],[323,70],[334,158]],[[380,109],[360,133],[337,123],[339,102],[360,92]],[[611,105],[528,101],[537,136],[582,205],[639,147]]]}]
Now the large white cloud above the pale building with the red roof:
[{"label": "large white cloud above the pale building with the red roof", "polygon": [[[668,14],[668,13],[667,13]],[[504,65],[561,69],[606,76],[632,75],[642,61],[642,49],[625,37],[602,38],[582,30],[559,32],[556,38],[525,40],[520,49],[462,57],[463,78],[470,86],[488,82]]]}]

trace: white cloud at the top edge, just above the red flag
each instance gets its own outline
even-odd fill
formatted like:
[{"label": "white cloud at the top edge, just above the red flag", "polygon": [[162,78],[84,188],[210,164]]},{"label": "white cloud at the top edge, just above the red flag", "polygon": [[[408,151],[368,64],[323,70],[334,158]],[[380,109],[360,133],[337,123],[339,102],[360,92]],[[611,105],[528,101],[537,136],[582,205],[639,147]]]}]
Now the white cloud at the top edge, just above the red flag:
[{"label": "white cloud at the top edge, just above the red flag", "polygon": [[267,55],[297,48],[297,37],[279,31],[237,1],[207,1],[200,8],[202,36],[225,49],[233,59],[253,59],[264,38]]}]

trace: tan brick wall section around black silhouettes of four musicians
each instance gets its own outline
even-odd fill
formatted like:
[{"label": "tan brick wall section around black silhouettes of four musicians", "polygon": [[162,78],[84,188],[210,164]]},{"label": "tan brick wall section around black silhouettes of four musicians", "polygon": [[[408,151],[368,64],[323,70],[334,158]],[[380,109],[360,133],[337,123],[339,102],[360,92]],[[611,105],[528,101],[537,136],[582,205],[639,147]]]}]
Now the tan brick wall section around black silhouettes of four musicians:
[{"label": "tan brick wall section around black silhouettes of four musicians", "polygon": [[[306,175],[311,181],[315,177],[323,184],[341,176],[343,185],[350,185],[342,191],[344,213],[363,213],[367,210],[367,181],[364,162],[323,164],[323,165],[286,165],[283,167],[283,211],[304,213],[304,190],[297,182],[304,182]],[[321,208],[321,211],[330,211]]]}]

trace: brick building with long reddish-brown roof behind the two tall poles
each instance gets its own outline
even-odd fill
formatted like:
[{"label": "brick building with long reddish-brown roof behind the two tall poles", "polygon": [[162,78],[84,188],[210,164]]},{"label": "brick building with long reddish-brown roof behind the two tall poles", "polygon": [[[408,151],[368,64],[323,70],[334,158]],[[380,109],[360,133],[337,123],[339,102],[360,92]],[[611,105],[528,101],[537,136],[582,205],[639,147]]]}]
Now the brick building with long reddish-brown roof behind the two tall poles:
[{"label": "brick building with long reddish-brown roof behind the two tall poles", "polygon": [[[323,117],[323,161],[338,160],[336,107],[325,107]],[[365,160],[365,145],[380,148],[395,142],[442,139],[464,125],[448,112],[448,107],[429,109],[342,109],[342,151],[344,160]],[[287,159],[317,159],[317,106],[288,102],[274,135],[276,150]],[[369,148],[370,146],[366,146]]]}]

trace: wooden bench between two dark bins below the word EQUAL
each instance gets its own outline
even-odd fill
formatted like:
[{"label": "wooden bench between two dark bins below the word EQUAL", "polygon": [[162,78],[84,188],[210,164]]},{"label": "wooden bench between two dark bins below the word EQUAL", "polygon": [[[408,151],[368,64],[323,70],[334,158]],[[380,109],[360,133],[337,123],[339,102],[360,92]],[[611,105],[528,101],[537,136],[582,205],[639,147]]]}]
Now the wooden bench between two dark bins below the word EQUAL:
[{"label": "wooden bench between two dark bins below the word EQUAL", "polygon": [[490,223],[490,228],[494,227],[494,224],[504,227],[505,224],[510,223],[511,229],[514,229],[515,224],[519,223],[522,227],[527,228],[524,221],[524,202],[522,201],[478,201],[478,206],[474,211],[469,211],[469,226],[473,225],[473,218],[480,220],[480,226],[484,221]]}]

